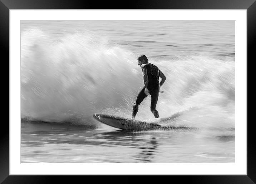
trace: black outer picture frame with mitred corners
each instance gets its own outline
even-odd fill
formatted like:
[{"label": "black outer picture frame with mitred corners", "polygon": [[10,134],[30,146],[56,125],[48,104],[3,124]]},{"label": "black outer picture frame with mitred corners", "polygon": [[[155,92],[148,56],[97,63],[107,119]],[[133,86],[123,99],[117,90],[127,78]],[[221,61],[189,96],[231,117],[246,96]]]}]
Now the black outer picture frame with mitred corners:
[{"label": "black outer picture frame with mitred corners", "polygon": [[[256,1],[255,0],[133,0],[133,1],[81,1],[81,0],[0,0],[0,34],[3,63],[9,61],[9,10],[11,9],[246,9],[247,10],[247,63],[254,62],[253,56],[256,49]],[[9,65],[8,65],[9,68]],[[6,70],[6,69],[5,69]],[[248,75],[247,75],[248,76]],[[5,80],[5,78],[3,78]],[[8,83],[9,85],[9,83]],[[8,88],[9,89],[9,88]],[[10,91],[8,90],[9,94]],[[9,96],[10,97],[10,96]],[[8,106],[9,107],[9,106]],[[9,108],[8,108],[9,109]],[[9,116],[8,116],[9,120]],[[247,122],[241,122],[247,123]],[[24,176],[9,175],[9,124],[1,125],[1,154],[0,154],[0,182],[2,183],[53,183],[57,178],[58,183],[69,181],[83,182],[100,179],[107,183],[132,183],[138,176],[125,175],[113,180],[113,176]],[[256,145],[253,136],[255,129],[253,122],[247,123],[247,175],[189,175],[189,176],[161,176],[161,180],[190,183],[255,183],[256,182]],[[160,177],[143,177],[143,182],[152,182]],[[78,183],[78,182],[75,182]],[[97,182],[98,183],[98,182]]]}]

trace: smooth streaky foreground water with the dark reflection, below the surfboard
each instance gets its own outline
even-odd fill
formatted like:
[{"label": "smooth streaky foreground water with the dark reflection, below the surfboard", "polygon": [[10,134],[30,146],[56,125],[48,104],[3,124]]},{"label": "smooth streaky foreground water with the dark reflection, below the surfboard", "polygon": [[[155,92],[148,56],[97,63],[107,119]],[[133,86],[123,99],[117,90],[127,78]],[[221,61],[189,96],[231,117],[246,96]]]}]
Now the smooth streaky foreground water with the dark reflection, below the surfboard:
[{"label": "smooth streaky foreground water with the dark reflection, below the surfboard", "polygon": [[234,163],[235,137],[21,123],[21,163]]}]

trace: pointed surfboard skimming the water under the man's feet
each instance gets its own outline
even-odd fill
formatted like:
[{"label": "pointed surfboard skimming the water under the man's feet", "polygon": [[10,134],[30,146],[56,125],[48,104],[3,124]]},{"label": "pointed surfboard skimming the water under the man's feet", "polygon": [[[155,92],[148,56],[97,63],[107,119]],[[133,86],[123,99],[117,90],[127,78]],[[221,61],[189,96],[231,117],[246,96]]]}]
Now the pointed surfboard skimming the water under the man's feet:
[{"label": "pointed surfboard skimming the water under the man's feet", "polygon": [[131,120],[130,118],[123,118],[114,115],[108,114],[94,114],[93,117],[97,119],[99,122],[107,124],[109,126],[120,128],[128,131],[136,130],[152,130],[152,129],[170,129],[173,128],[172,126],[161,126],[161,122],[166,122],[173,120],[174,118],[178,117],[179,114],[173,114],[171,117],[167,118],[155,118],[155,119],[148,119],[148,120]]}]

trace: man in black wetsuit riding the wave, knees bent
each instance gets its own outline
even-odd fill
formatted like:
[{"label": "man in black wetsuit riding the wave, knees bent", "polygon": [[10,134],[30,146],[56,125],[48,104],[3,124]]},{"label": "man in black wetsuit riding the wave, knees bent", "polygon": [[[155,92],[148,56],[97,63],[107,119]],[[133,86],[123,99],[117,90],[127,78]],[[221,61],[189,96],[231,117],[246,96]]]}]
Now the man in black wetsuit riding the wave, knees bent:
[{"label": "man in black wetsuit riding the wave, knees bent", "polygon": [[[159,118],[158,111],[156,110],[156,104],[159,95],[160,86],[163,85],[166,77],[163,75],[163,72],[158,69],[156,65],[153,65],[148,62],[148,58],[145,55],[141,55],[138,59],[138,65],[141,66],[142,73],[143,73],[143,80],[144,80],[144,87],[142,88],[141,92],[139,92],[137,99],[133,105],[132,110],[132,120],[135,118],[138,110],[139,104],[143,101],[144,98],[151,95],[151,105],[150,109],[151,112],[154,114],[155,118]],[[159,77],[162,78],[161,82],[159,83]]]}]

